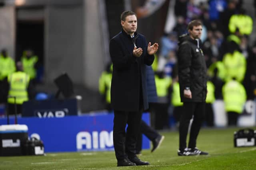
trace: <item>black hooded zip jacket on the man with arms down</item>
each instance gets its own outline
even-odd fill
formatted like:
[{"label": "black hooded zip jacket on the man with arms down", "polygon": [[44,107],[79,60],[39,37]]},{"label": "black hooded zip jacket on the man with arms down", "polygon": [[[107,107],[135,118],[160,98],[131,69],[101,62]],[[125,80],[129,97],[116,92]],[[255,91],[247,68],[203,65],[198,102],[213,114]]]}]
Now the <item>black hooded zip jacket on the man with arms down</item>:
[{"label": "black hooded zip jacket on the man with arms down", "polygon": [[[205,102],[207,76],[201,47],[200,39],[192,39],[188,34],[179,37],[178,75],[181,102]],[[192,99],[184,97],[186,87],[190,88]]]}]

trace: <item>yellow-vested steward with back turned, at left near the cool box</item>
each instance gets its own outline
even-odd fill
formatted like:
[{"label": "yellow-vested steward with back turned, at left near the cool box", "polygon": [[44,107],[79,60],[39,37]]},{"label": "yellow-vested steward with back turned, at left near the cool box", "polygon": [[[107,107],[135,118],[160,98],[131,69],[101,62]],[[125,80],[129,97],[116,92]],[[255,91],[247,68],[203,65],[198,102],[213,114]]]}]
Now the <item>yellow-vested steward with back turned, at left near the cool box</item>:
[{"label": "yellow-vested steward with back turned, at left near the cool box", "polygon": [[[8,113],[14,114],[15,102],[17,105],[17,113],[21,113],[23,102],[28,101],[28,86],[30,78],[28,74],[22,71],[22,63],[17,63],[17,71],[8,76],[9,91],[8,91]],[[14,99],[16,98],[16,101]]]}]

